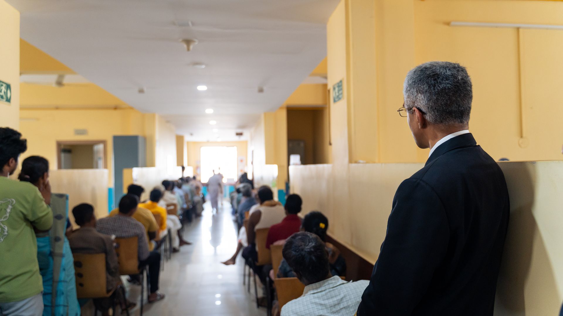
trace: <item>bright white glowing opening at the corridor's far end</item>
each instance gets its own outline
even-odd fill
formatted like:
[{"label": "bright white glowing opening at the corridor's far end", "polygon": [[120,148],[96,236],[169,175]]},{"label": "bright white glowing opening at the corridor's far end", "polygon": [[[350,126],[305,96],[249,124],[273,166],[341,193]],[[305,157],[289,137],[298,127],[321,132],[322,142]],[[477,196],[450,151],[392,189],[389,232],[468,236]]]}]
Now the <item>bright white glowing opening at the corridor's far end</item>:
[{"label": "bright white glowing opening at the corridor's far end", "polygon": [[236,147],[225,146],[204,146],[200,150],[201,177],[202,182],[206,183],[215,173],[223,175],[223,182],[238,178],[238,162]]}]

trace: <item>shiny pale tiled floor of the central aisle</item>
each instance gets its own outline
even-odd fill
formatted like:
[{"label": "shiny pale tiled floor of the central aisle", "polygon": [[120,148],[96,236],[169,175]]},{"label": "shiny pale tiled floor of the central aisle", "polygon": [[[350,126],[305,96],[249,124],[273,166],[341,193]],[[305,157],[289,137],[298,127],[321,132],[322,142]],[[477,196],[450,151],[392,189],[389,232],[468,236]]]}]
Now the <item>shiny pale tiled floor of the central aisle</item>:
[{"label": "shiny pale tiled floor of the central aisle", "polygon": [[[236,224],[229,203],[225,201],[215,215],[209,206],[205,205],[202,217],[185,227],[184,238],[193,245],[182,246],[164,264],[160,292],[166,294],[166,299],[145,304],[144,315],[266,315],[265,308],[256,308],[253,287],[248,293],[242,284],[243,259],[239,256],[236,265],[229,267],[221,264],[236,249]],[[260,282],[258,286],[261,292]],[[128,298],[138,303],[140,287],[128,285],[127,291]],[[139,314],[137,306],[131,315]]]}]

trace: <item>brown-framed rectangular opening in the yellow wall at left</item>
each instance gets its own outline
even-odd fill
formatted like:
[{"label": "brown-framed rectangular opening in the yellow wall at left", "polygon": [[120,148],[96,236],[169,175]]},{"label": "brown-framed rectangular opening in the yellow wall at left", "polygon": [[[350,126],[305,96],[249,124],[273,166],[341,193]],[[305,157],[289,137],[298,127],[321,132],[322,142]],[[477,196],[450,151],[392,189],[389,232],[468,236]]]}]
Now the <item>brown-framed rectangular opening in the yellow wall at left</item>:
[{"label": "brown-framed rectangular opening in the yellow wall at left", "polygon": [[57,141],[59,169],[106,169],[106,141]]}]

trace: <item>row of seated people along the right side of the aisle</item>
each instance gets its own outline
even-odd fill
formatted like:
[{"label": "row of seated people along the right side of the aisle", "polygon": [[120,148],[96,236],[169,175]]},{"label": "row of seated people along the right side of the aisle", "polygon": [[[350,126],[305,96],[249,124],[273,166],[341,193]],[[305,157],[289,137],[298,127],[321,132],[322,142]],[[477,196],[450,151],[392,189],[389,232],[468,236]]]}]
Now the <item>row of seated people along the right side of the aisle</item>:
[{"label": "row of seated people along the right side of the aisle", "polygon": [[[285,206],[282,206],[274,201],[273,192],[267,186],[260,187],[256,196],[245,184],[239,186],[239,191],[243,198],[237,206],[241,227],[238,247],[235,254],[223,263],[235,264],[241,250],[247,262],[256,263],[260,249],[256,245],[256,232],[269,228],[266,239],[261,242],[265,242],[266,249],[273,245],[283,246],[283,260],[277,267],[276,275],[271,264],[251,265],[264,286],[264,292],[274,292],[272,297],[275,295],[275,288],[266,287],[273,283],[267,282],[267,278],[271,281],[296,277],[305,285],[303,295],[285,304],[281,311],[274,303],[272,314],[354,315],[369,281],[346,282],[341,278],[346,274],[346,261],[337,247],[326,242],[327,217],[319,211],[312,211],[301,220],[298,214],[302,209],[302,199],[295,194],[289,195]],[[258,305],[267,306],[266,297],[258,299]]]}]

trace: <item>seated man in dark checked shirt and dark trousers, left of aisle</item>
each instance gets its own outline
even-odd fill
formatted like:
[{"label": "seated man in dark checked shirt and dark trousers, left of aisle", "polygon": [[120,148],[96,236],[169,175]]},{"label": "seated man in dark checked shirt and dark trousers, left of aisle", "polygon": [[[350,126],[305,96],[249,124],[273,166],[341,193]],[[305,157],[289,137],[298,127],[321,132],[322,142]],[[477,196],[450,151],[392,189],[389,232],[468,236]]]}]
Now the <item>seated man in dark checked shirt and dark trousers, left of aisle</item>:
[{"label": "seated man in dark checked shirt and dark trousers, left of aisle", "polygon": [[138,237],[138,260],[139,268],[148,266],[150,277],[149,303],[164,299],[164,294],[158,292],[158,278],[160,274],[160,254],[157,251],[149,251],[146,241],[145,227],[131,216],[137,211],[138,197],[128,194],[119,201],[119,214],[112,217],[102,218],[96,223],[96,230],[106,235],[114,235],[117,238]]}]

